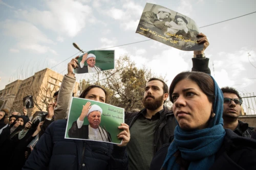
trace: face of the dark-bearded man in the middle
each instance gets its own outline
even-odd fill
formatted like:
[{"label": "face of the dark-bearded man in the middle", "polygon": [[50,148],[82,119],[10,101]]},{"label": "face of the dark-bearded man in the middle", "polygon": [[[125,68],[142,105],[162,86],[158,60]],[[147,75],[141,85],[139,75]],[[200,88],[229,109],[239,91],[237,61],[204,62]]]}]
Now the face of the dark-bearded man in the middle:
[{"label": "face of the dark-bearded man in the middle", "polygon": [[163,93],[163,83],[158,80],[153,80],[146,84],[143,106],[148,110],[156,110],[163,106],[163,102],[167,98],[168,94]]}]

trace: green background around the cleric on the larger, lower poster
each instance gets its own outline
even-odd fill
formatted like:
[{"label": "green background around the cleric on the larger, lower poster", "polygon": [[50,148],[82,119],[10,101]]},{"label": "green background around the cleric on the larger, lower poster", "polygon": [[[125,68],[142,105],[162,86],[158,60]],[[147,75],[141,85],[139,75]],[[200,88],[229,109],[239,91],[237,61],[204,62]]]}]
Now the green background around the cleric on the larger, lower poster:
[{"label": "green background around the cleric on the larger, lower poster", "polygon": [[[117,135],[121,131],[123,131],[122,129],[118,129],[118,126],[120,126],[121,123],[124,123],[123,108],[115,107],[101,102],[74,97],[71,101],[65,138],[69,138],[68,131],[71,128],[73,122],[75,122],[77,118],[80,116],[83,105],[85,105],[87,102],[91,102],[91,106],[95,104],[102,109],[100,126],[105,127],[105,129],[111,134],[113,143],[121,143],[121,139],[118,139]],[[89,125],[87,117],[84,118],[83,125]]]}]

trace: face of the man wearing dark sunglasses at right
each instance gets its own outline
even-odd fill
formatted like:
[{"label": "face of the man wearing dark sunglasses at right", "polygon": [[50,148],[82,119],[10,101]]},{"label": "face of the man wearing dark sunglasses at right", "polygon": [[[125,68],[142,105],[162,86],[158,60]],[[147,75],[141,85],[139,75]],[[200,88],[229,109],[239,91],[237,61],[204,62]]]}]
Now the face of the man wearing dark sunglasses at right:
[{"label": "face of the man wearing dark sunglasses at right", "polygon": [[[238,96],[234,93],[223,93],[223,96],[224,98],[238,99]],[[231,101],[231,103],[224,103],[223,107],[223,118],[238,118],[241,113],[241,105],[236,105],[234,101]]]}]

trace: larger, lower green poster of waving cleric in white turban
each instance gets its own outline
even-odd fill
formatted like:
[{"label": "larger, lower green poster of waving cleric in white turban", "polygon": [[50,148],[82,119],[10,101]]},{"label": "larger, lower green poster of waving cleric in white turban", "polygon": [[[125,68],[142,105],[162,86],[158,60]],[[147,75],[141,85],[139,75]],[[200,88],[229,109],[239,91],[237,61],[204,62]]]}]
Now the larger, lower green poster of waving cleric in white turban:
[{"label": "larger, lower green poster of waving cleric in white turban", "polygon": [[121,144],[117,135],[124,109],[102,102],[72,98],[65,138]]}]

